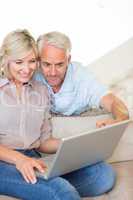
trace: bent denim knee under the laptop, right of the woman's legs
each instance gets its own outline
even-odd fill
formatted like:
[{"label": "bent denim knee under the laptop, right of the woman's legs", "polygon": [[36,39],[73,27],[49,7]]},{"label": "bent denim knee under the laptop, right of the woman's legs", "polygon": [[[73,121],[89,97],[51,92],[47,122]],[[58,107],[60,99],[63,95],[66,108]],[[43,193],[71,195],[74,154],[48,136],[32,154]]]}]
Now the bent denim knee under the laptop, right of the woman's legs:
[{"label": "bent denim knee under the laptop, right of the woman's legs", "polygon": [[76,170],[62,177],[77,189],[81,197],[98,196],[108,192],[116,181],[115,171],[105,162]]}]

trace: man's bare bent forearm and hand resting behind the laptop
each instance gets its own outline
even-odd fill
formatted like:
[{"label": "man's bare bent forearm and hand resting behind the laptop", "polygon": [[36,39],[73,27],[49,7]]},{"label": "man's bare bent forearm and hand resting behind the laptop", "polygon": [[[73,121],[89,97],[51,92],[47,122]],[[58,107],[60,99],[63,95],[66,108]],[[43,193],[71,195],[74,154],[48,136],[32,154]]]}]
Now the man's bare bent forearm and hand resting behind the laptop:
[{"label": "man's bare bent forearm and hand resting behind the laptop", "polygon": [[106,126],[129,118],[126,105],[111,93],[102,97],[100,104],[105,110],[112,113],[114,119],[100,120],[96,124],[97,127]]}]

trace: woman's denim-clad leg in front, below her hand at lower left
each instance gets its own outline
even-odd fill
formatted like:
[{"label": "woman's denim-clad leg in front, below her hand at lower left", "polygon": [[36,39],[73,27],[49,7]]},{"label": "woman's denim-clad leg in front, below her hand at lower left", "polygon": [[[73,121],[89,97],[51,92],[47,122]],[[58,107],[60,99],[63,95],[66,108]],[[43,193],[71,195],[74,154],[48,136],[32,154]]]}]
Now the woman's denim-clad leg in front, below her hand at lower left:
[{"label": "woman's denim-clad leg in front, below her hand at lower left", "polygon": [[29,184],[14,165],[2,161],[0,161],[0,194],[23,200],[80,200],[76,189],[65,179],[38,178],[36,184]]}]

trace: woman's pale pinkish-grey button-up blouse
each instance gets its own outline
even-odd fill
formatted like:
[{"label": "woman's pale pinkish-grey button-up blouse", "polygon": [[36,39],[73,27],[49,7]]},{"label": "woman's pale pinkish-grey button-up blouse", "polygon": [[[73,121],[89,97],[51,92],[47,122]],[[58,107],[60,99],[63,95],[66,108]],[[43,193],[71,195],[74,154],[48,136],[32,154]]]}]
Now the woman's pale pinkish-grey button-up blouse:
[{"label": "woman's pale pinkish-grey button-up blouse", "polygon": [[0,144],[13,149],[38,148],[51,136],[49,109],[48,91],[41,83],[24,84],[20,98],[13,82],[0,79]]}]

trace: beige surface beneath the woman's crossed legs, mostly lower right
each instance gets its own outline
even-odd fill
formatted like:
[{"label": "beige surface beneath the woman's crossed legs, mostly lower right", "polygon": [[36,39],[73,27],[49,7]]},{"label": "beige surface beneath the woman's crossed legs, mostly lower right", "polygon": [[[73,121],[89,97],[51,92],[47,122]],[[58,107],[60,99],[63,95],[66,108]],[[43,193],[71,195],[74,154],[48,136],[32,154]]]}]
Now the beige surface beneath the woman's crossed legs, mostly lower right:
[{"label": "beige surface beneath the woman's crossed legs, mostly lower right", "polygon": [[[118,176],[114,189],[108,194],[83,200],[133,200],[133,161],[114,163],[113,166]],[[15,199],[0,196],[0,200]]]}]

